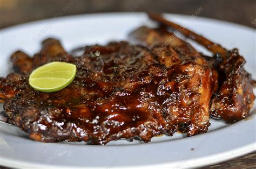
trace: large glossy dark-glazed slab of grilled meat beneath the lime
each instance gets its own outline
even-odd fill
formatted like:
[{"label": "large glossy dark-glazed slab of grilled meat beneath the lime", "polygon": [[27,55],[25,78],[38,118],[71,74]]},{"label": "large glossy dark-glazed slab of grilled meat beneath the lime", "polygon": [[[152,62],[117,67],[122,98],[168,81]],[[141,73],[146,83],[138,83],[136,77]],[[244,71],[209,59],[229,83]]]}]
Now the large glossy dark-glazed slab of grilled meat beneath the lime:
[{"label": "large glossy dark-glazed slab of grilled meat beneath the lime", "polygon": [[[177,62],[165,66],[154,52],[125,42],[86,47],[79,58],[65,52],[59,55],[55,50],[62,47],[56,45],[60,45],[57,40],[45,40],[42,51],[24,64],[19,64],[18,55],[25,54],[15,53],[17,71],[24,75],[10,74],[1,81],[6,115],[32,139],[149,142],[153,136],[172,135],[178,129],[188,136],[207,131],[213,86],[208,67],[177,54]],[[29,70],[23,65],[31,60]],[[76,64],[75,81],[55,93],[33,90],[27,72],[53,60]]]}]

